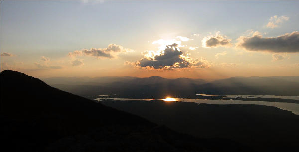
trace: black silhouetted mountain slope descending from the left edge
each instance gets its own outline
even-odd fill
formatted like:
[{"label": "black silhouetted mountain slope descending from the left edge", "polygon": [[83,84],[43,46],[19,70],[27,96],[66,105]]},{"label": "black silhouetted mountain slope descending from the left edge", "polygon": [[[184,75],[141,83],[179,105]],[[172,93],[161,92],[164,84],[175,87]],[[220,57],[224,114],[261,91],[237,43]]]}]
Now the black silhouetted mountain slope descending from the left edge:
[{"label": "black silhouetted mountain slope descending from the left edge", "polygon": [[2,152],[244,152],[60,91],[20,72],[1,72]]}]

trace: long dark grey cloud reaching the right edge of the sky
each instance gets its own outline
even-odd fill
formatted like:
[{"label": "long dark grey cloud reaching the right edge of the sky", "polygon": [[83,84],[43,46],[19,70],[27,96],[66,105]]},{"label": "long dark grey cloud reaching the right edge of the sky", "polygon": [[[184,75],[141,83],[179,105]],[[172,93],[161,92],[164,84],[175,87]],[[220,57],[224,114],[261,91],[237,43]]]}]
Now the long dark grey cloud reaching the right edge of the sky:
[{"label": "long dark grey cloud reaching the right edge of the sky", "polygon": [[299,52],[299,32],[286,33],[278,37],[263,38],[260,34],[241,36],[237,47],[249,51]]}]

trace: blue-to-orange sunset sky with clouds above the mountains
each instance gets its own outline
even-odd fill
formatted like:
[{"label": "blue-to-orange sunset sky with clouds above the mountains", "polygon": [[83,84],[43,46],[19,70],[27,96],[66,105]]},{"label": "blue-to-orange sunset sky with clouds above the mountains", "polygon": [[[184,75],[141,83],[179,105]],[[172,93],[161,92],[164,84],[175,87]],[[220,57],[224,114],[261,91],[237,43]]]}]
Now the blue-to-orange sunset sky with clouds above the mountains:
[{"label": "blue-to-orange sunset sky with clouds above the mountains", "polygon": [[1,1],[0,70],[299,76],[299,1]]}]

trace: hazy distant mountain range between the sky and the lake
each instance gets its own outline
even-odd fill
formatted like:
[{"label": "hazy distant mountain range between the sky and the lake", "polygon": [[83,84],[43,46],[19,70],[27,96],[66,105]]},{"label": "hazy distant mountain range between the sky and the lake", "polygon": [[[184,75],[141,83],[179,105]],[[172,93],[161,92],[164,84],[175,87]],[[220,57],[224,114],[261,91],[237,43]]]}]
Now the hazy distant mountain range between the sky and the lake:
[{"label": "hazy distant mountain range between the sky and the lake", "polygon": [[[47,84],[81,96],[115,94],[128,98],[196,98],[195,94],[299,95],[299,76],[231,77],[207,82],[202,79],[137,77],[53,77]],[[134,92],[134,94],[132,94]]]}]

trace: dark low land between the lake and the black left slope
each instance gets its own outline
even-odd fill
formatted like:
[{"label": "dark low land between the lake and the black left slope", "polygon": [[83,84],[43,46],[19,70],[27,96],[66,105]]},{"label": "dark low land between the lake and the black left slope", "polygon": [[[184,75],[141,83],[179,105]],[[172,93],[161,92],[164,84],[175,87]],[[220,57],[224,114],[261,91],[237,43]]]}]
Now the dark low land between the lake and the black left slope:
[{"label": "dark low land between the lake and the black left slope", "polygon": [[258,152],[298,152],[299,116],[263,105],[164,101],[101,101],[178,132],[226,138]]}]

